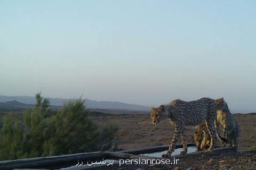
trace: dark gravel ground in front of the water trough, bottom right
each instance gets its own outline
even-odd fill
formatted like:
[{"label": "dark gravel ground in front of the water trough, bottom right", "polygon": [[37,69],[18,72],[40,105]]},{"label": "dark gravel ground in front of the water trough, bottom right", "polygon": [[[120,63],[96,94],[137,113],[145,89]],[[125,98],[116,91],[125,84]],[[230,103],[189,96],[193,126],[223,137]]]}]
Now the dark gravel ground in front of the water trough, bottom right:
[{"label": "dark gravel ground in front of the water trough, bottom right", "polygon": [[225,152],[214,155],[196,155],[180,159],[178,165],[173,166],[148,166],[148,165],[124,165],[112,169],[256,169],[256,151]]}]

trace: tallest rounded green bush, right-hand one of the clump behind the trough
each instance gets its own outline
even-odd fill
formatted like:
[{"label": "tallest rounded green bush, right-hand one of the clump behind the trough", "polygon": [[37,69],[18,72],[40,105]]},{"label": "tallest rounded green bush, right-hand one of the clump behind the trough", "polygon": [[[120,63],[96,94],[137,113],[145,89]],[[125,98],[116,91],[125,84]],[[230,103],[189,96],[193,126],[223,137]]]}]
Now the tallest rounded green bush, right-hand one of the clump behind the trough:
[{"label": "tallest rounded green bush, right-hand one of the clump behind the trough", "polygon": [[98,149],[98,127],[87,116],[89,110],[81,98],[70,100],[51,118],[46,131],[43,155],[73,154]]}]

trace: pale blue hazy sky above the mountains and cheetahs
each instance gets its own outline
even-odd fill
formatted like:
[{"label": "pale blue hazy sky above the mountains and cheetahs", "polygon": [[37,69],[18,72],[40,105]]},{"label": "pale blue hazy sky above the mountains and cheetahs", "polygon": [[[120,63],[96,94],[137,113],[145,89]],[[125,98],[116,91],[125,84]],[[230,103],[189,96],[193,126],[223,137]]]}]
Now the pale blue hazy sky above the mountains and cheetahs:
[{"label": "pale blue hazy sky above the mountains and cheetahs", "polygon": [[256,111],[255,1],[0,1],[0,95]]}]

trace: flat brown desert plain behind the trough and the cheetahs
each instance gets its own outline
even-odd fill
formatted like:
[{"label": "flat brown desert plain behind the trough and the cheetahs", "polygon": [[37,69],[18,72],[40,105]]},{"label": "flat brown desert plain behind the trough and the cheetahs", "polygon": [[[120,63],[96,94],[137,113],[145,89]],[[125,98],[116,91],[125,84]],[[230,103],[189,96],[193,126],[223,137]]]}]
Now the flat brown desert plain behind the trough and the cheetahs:
[{"label": "flat brown desert plain behind the trough and the cheetahs", "polygon": [[[151,123],[149,114],[100,114],[92,113],[90,117],[99,125],[115,123],[119,126],[118,145],[122,149],[143,149],[149,146],[168,145],[174,132],[169,121],[163,120],[156,126]],[[256,145],[256,114],[235,114],[241,134],[239,150],[250,150]],[[187,126],[186,140],[194,142],[195,126]],[[220,144],[220,143],[219,143]]]}]

